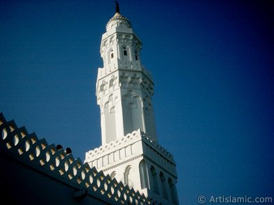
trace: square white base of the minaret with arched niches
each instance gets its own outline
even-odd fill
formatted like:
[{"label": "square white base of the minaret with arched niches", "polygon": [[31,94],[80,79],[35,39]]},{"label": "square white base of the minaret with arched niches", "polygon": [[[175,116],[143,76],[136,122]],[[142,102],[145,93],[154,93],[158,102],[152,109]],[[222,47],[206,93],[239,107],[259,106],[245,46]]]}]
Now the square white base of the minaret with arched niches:
[{"label": "square white base of the minaret with arched niches", "polygon": [[176,202],[177,191],[169,184],[177,182],[173,156],[140,129],[86,152],[85,162],[146,196],[153,195],[165,204],[172,204],[169,201],[173,198]]}]

